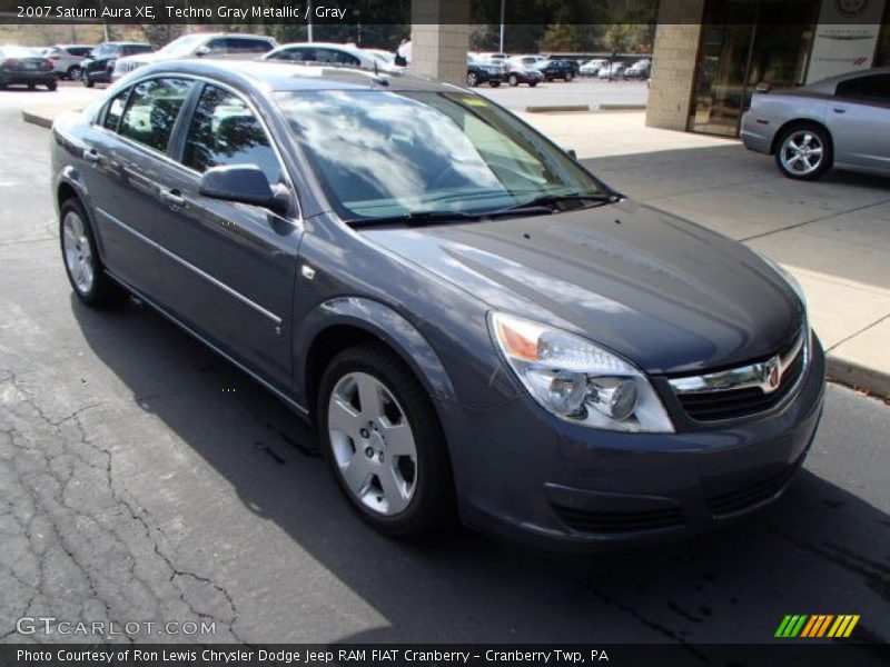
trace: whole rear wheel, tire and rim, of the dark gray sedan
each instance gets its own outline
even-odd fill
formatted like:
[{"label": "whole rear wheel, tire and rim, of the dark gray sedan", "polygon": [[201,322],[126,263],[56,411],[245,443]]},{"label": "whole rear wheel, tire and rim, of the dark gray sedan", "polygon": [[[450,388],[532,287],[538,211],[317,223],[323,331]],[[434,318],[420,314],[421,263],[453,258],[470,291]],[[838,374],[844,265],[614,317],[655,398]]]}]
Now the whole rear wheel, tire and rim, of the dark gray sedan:
[{"label": "whole rear wheel, tire and rim, of the dark gray sedan", "polygon": [[89,218],[77,199],[62,203],[59,240],[68,280],[83,303],[102,308],[127,298],[127,292],[105,273]]}]

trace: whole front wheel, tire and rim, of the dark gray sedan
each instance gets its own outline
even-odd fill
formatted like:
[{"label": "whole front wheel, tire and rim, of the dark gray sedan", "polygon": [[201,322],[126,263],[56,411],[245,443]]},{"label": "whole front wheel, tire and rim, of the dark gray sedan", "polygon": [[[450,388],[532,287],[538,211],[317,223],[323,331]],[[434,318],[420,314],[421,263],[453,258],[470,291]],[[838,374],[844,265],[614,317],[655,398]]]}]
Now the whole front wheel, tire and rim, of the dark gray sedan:
[{"label": "whole front wheel, tire and rim, of the dark gray sedan", "polygon": [[404,537],[451,522],[445,438],[428,395],[397,356],[373,344],[340,352],[317,406],[328,462],[365,521]]}]

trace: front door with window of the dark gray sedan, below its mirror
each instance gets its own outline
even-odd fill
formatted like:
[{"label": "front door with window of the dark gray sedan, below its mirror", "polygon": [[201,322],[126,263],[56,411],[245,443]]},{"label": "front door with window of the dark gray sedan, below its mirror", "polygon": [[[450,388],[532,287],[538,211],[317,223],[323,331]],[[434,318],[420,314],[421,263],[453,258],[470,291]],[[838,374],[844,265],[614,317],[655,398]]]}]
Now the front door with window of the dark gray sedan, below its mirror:
[{"label": "front door with window of the dark gray sedan, below its mirror", "polygon": [[[210,199],[199,193],[212,167],[256,165],[291,189],[256,110],[210,83],[178,130],[181,166],[166,181],[162,243],[178,267],[165,302],[189,327],[279,387],[291,384],[291,311],[303,227],[297,211]],[[291,197],[294,201],[295,198]]]}]

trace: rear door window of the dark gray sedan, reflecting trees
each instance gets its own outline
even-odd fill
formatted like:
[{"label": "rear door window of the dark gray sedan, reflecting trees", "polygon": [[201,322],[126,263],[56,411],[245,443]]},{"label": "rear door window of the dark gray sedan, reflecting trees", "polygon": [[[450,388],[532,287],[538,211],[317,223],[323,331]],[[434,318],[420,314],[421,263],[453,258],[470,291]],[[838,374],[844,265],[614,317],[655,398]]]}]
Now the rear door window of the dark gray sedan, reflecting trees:
[{"label": "rear door window of the dark gray sedan, reflecting trees", "polygon": [[191,82],[182,79],[150,79],[134,87],[120,135],[165,152],[179,110]]}]

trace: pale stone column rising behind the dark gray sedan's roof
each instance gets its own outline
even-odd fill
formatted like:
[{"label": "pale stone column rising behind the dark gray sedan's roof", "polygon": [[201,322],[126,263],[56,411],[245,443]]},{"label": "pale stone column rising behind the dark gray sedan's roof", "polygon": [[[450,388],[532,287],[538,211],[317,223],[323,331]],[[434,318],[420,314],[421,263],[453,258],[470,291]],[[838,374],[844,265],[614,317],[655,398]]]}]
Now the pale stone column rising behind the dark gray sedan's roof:
[{"label": "pale stone column rising behind the dark gray sedan's roof", "polygon": [[464,86],[469,0],[412,0],[411,17],[411,71]]}]

